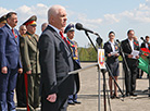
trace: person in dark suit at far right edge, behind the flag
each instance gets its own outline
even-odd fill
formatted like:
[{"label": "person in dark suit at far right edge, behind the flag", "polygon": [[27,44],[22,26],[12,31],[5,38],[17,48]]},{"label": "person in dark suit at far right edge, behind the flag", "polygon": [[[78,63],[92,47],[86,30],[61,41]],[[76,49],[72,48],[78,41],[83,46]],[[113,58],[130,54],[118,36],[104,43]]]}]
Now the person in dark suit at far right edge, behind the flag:
[{"label": "person in dark suit at far right edge, behind the flag", "polygon": [[[140,48],[148,48],[149,50],[150,50],[150,42],[149,42],[149,40],[150,40],[150,37],[149,36],[146,36],[145,37],[145,40],[146,40],[146,42],[143,41],[141,45],[140,45]],[[140,72],[140,78],[142,78],[142,75],[143,75],[143,71],[141,70],[141,72]],[[149,74],[147,74],[147,78],[149,77]]]}]

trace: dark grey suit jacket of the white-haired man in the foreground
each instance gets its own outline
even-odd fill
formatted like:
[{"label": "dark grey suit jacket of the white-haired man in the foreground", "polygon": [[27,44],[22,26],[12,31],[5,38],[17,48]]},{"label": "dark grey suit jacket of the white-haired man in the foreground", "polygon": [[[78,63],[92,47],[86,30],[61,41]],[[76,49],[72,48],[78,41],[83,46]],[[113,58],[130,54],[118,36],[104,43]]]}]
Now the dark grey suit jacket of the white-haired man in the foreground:
[{"label": "dark grey suit jacket of the white-haired man in the foreground", "polygon": [[[43,92],[46,96],[50,94],[66,97],[72,95],[76,82],[74,75],[67,76],[67,74],[74,70],[76,63],[73,62],[68,46],[52,27],[48,26],[39,38],[38,47],[41,66],[41,95]],[[67,78],[62,82],[66,76]]]}]

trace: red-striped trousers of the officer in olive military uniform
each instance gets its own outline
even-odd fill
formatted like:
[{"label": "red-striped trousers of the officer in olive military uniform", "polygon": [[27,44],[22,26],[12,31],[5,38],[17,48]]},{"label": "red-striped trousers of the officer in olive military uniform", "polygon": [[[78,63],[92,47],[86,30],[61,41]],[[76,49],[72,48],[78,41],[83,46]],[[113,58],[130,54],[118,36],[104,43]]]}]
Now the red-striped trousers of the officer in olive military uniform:
[{"label": "red-striped trousers of the officer in olive military uniform", "polygon": [[39,107],[40,74],[25,74],[25,89],[27,111],[35,111]]}]

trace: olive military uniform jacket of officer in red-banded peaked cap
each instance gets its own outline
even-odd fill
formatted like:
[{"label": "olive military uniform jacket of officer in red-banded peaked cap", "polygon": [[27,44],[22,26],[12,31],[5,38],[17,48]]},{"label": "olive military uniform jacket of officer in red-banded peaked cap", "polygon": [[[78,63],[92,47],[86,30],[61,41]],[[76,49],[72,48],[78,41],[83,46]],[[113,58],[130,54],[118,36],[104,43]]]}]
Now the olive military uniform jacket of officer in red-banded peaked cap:
[{"label": "olive military uniform jacket of officer in red-banded peaked cap", "polygon": [[24,72],[32,71],[33,74],[40,73],[39,50],[37,48],[39,36],[26,33],[21,37],[21,57]]}]

